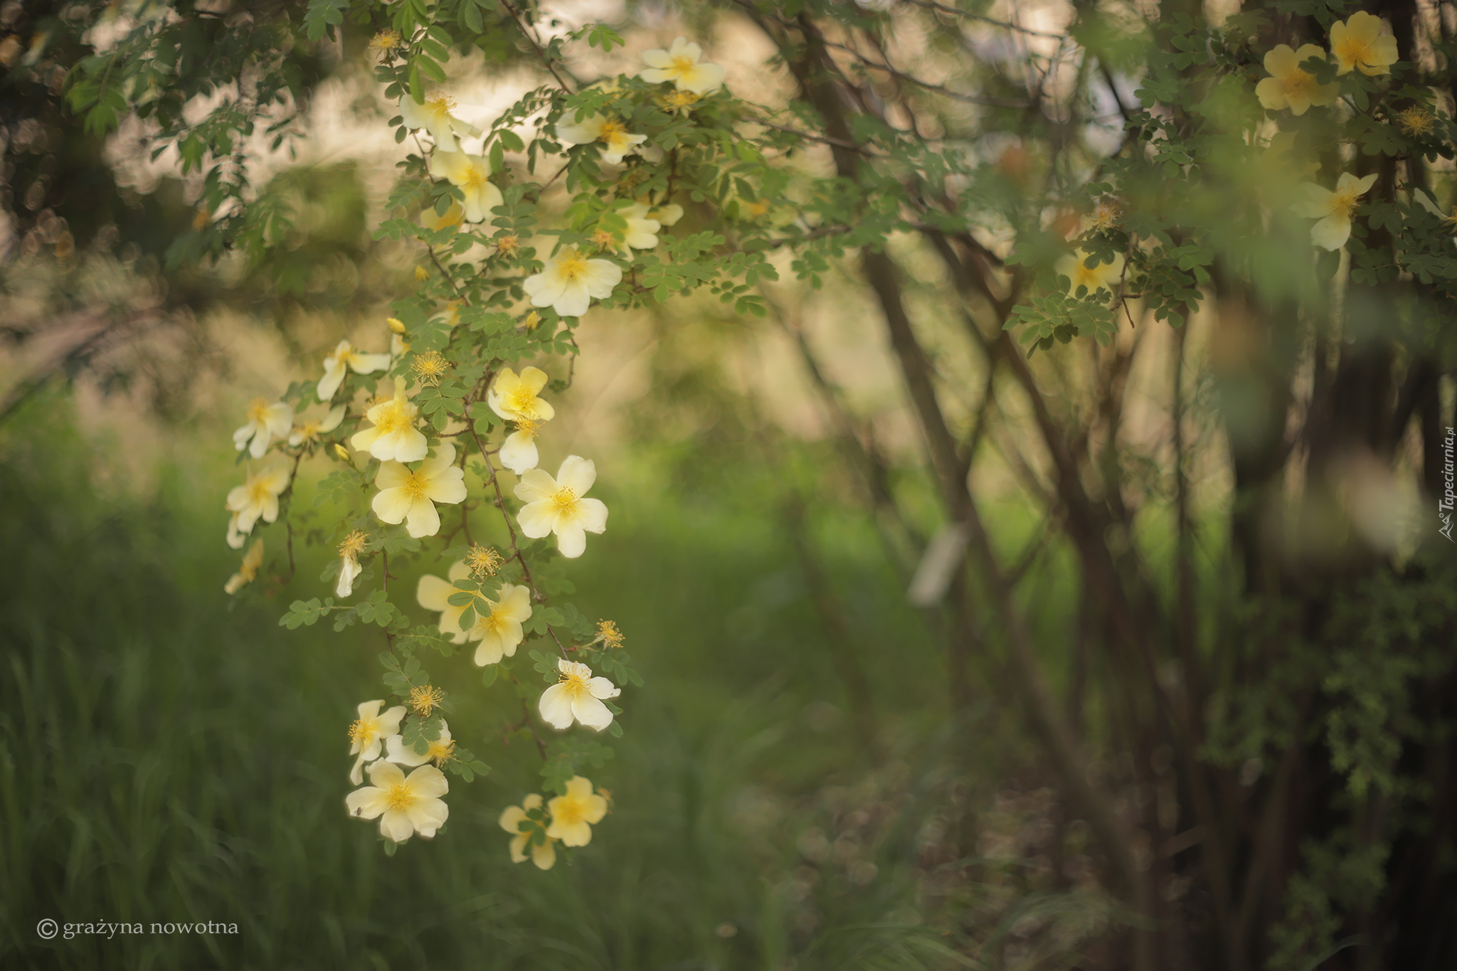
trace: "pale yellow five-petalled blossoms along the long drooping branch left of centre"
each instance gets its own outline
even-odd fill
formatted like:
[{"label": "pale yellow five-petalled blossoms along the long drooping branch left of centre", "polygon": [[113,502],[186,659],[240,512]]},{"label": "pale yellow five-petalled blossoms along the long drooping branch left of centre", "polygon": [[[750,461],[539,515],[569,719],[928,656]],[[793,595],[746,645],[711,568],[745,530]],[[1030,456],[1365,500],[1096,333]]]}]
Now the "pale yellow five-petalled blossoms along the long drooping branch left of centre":
[{"label": "pale yellow five-petalled blossoms along the long drooping branch left of centre", "polygon": [[[389,31],[372,41],[372,48],[386,58],[395,57],[393,51],[402,45],[401,35]],[[669,98],[678,112],[692,111],[701,98],[724,82],[724,70],[704,63],[702,48],[683,38],[673,41],[667,49],[644,52],[643,61],[645,67],[640,77],[654,84],[670,83],[673,93]],[[421,223],[431,230],[484,223],[491,218],[492,210],[503,205],[501,189],[491,182],[490,160],[484,154],[466,151],[463,144],[463,140],[479,137],[481,130],[462,121],[455,112],[455,99],[443,92],[428,95],[423,103],[417,103],[411,95],[399,100],[404,124],[428,135],[424,143],[428,154],[425,170],[433,179],[443,179],[460,192],[459,201],[453,201],[444,213],[430,210],[421,215]],[[567,146],[594,146],[600,162],[606,165],[621,163],[628,154],[659,151],[644,144],[647,135],[634,134],[621,119],[602,114],[562,119],[555,128],[555,137]],[[590,239],[596,252],[590,246],[561,246],[546,259],[541,272],[522,281],[530,307],[552,307],[562,317],[581,316],[593,300],[609,298],[622,280],[622,269],[603,256],[631,259],[635,250],[656,247],[663,227],[673,226],[682,214],[680,207],[654,207],[647,197],[627,205],[619,204],[612,221],[618,229],[602,230]],[[511,233],[501,234],[494,242],[495,252],[507,255],[523,245]],[[430,274],[418,268],[417,277],[428,280]],[[437,323],[450,329],[457,320],[459,304],[450,303],[444,320],[437,319]],[[538,310],[529,310],[523,322],[525,330],[530,332],[539,322]],[[439,416],[436,422],[427,422],[420,406],[421,392],[439,387],[449,376],[452,361],[434,349],[417,352],[407,361],[411,354],[408,329],[393,317],[388,323],[388,352],[364,351],[342,339],[325,357],[323,373],[315,384],[318,402],[328,409],[325,413],[302,418],[294,415],[287,402],[267,399],[256,399],[249,405],[246,424],[233,434],[236,450],[246,450],[255,463],[248,467],[245,482],[227,495],[227,542],[233,549],[243,546],[259,521],[278,520],[281,499],[288,494],[300,461],[315,451],[348,463],[356,472],[364,456],[377,463],[370,466],[377,469],[370,510],[379,523],[404,524],[405,531],[415,539],[440,533],[439,507],[466,501],[462,447],[466,441],[479,443],[478,432],[471,425],[462,428],[459,416],[452,416],[444,424],[439,422]],[[587,533],[600,534],[608,523],[608,507],[600,499],[587,496],[596,482],[596,466],[581,456],[567,456],[555,476],[538,469],[541,456],[536,440],[555,418],[554,406],[542,396],[548,374],[532,365],[520,367],[519,373],[513,367],[492,367],[494,373],[484,379],[484,400],[507,424],[507,434],[494,448],[481,445],[482,459],[488,464],[498,459],[501,467],[517,476],[514,496],[522,505],[514,518],[522,536],[554,536],[557,550],[564,558],[581,556]],[[380,387],[377,397],[360,405],[357,395],[350,393],[351,389],[358,389],[347,384],[351,374],[379,376],[388,384]],[[335,403],[341,389],[345,389],[345,395]],[[341,429],[345,421],[356,424]],[[469,437],[462,440],[462,434]],[[494,483],[494,467],[490,469],[488,479]],[[494,504],[501,508],[503,515],[510,515],[503,504]],[[363,574],[360,560],[376,552],[379,544],[379,536],[367,526],[350,526],[353,528],[338,544],[338,581],[334,592],[339,600],[354,594],[354,584]],[[511,536],[514,550],[514,531]],[[532,620],[535,584],[520,550],[514,550],[514,558],[522,562],[526,585],[506,581],[500,582],[498,590],[482,585],[482,581],[500,572],[506,560],[494,549],[472,546],[463,559],[449,568],[444,578],[421,576],[415,590],[417,603],[439,614],[436,629],[444,639],[457,645],[476,645],[474,659],[479,667],[514,657],[525,638],[525,625]],[[255,539],[239,571],[227,581],[226,591],[233,594],[252,582],[259,575],[262,562],[264,543],[262,539]],[[535,600],[541,601],[542,597],[538,594]],[[612,622],[600,622],[597,638],[586,648],[594,645],[602,645],[603,651],[616,651],[622,646],[622,633]],[[605,731],[612,725],[616,710],[608,702],[618,697],[621,690],[609,678],[593,675],[587,664],[570,659],[570,649],[576,648],[562,648],[562,658],[557,662],[558,680],[542,691],[536,715],[558,731],[577,724],[597,732]],[[612,670],[610,665],[608,670]],[[441,769],[459,758],[460,763],[453,766],[459,770],[471,758],[463,748],[456,753],[456,742],[443,718],[431,722],[439,725],[436,740],[405,744],[407,734],[414,731],[409,726],[415,725],[414,721],[405,722],[408,712],[414,710],[418,719],[427,719],[441,706],[452,710],[444,691],[430,684],[411,684],[408,708],[396,705],[386,709],[383,699],[363,702],[348,731],[350,754],[354,756],[348,779],[357,786],[345,798],[348,814],[363,820],[377,818],[380,834],[396,844],[417,834],[433,837],[446,824],[449,808],[443,798],[450,786]],[[424,751],[417,751],[417,745]],[[369,785],[364,785],[366,773]],[[466,779],[469,777],[466,773]],[[606,812],[605,795],[594,792],[589,779],[574,776],[565,783],[562,795],[549,802],[543,802],[541,795],[530,795],[520,806],[506,809],[500,824],[513,836],[513,860],[522,862],[529,855],[536,866],[548,869],[555,862],[557,843],[586,846],[592,840],[592,824],[599,823]]]}]

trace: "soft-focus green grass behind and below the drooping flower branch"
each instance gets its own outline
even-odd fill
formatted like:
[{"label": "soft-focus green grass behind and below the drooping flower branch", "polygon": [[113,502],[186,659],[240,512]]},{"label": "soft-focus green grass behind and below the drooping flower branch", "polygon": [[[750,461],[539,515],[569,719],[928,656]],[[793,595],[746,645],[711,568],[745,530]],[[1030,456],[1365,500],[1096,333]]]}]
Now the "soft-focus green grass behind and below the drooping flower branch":
[{"label": "soft-focus green grass behind and below the drooping flower branch", "polygon": [[[226,480],[172,467],[150,501],[125,498],[66,427],[25,427],[0,441],[0,965],[950,968],[966,967],[951,951],[966,935],[1021,913],[988,910],[1013,884],[983,887],[962,859],[983,785],[965,766],[986,760],[994,777],[995,751],[1017,745],[988,709],[949,724],[938,648],[854,515],[814,515],[855,632],[842,645],[781,520],[753,501],[772,476],[717,495],[605,489],[612,528],[580,560],[574,601],[618,620],[647,678],[622,699],[616,758],[593,772],[613,812],[570,865],[511,865],[495,817],[539,789],[535,747],[501,748],[516,713],[503,683],[482,690],[466,658],[431,658],[465,699],[456,738],[494,770],[453,779],[447,828],[388,857],[342,805],[353,708],[383,696],[380,635],[277,625],[318,595],[322,560],[235,603]],[[844,651],[876,687],[876,758],[835,671]],[[1055,900],[1080,920],[1097,910]],[[45,942],[45,917],[237,933]]]}]

